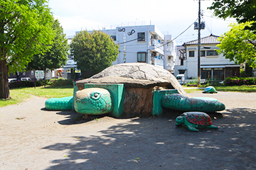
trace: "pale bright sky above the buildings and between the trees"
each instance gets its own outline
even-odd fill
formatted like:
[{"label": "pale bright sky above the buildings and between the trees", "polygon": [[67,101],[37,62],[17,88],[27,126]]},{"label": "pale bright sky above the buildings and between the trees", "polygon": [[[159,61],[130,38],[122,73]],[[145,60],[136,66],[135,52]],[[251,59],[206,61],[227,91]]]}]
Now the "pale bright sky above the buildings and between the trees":
[{"label": "pale bright sky above the buildings and between the trees", "polygon": [[[201,21],[206,22],[201,38],[223,35],[230,30],[229,24],[235,23],[233,18],[224,21],[213,16],[207,9],[212,3],[201,0]],[[154,25],[164,35],[177,37],[177,45],[198,39],[198,30],[191,26],[198,18],[197,0],[49,0],[48,5],[67,36],[79,30]]]}]

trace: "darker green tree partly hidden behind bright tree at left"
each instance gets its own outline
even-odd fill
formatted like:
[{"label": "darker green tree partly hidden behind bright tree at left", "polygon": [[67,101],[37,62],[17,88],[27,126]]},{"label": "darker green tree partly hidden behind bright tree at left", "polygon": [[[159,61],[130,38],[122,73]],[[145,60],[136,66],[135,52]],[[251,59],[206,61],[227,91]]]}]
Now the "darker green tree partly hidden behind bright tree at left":
[{"label": "darker green tree partly hidden behind bright tree at left", "polygon": [[69,50],[68,38],[65,38],[63,28],[60,26],[58,20],[53,20],[52,29],[55,38],[52,44],[46,44],[49,50],[33,55],[32,61],[28,63],[27,70],[43,70],[46,75],[46,69],[58,69],[67,62]]}]

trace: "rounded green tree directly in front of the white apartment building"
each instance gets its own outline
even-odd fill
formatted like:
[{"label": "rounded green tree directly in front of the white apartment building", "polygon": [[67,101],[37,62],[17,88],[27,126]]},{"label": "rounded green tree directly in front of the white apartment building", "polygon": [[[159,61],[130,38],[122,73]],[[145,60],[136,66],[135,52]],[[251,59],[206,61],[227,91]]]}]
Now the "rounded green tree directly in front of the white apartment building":
[{"label": "rounded green tree directly in front of the white apartment building", "polygon": [[78,69],[86,73],[84,77],[91,77],[110,67],[117,60],[119,45],[115,45],[110,35],[100,30],[81,31],[71,42],[71,52]]}]

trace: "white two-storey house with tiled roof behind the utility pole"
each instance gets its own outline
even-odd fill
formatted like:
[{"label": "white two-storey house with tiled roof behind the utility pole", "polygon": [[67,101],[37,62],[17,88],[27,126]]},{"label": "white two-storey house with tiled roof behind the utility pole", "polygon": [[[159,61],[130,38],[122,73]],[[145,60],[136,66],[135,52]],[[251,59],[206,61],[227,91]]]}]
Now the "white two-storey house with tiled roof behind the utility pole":
[{"label": "white two-storey house with tiled roof behind the utility pole", "polygon": [[[218,81],[225,77],[239,77],[240,65],[234,61],[225,59],[222,54],[218,55],[220,44],[218,36],[209,35],[201,38],[201,79]],[[185,79],[198,77],[198,40],[183,43],[183,49],[180,50],[179,57],[182,64],[174,67],[174,75],[185,74]]]}]

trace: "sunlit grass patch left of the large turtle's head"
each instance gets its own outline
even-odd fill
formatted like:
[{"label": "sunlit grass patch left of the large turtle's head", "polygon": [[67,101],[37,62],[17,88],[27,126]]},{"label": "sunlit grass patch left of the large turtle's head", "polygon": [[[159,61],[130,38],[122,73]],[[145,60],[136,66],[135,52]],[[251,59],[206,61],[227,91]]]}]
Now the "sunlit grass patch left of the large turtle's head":
[{"label": "sunlit grass patch left of the large turtle's head", "polygon": [[73,86],[43,86],[28,87],[28,88],[18,88],[10,90],[11,99],[0,99],[0,108],[18,104],[25,101],[27,98],[30,98],[31,95],[45,98],[60,98],[66,96],[73,96]]}]

